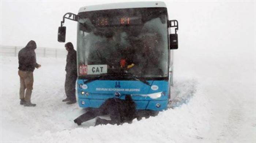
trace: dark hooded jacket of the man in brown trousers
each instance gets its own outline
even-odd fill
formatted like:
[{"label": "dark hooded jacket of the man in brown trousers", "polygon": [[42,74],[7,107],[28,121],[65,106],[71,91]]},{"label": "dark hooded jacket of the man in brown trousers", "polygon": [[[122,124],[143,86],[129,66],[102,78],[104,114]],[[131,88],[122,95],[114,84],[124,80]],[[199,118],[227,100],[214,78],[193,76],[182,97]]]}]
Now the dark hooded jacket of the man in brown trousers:
[{"label": "dark hooded jacket of the man in brown trousers", "polygon": [[19,67],[18,69],[24,71],[34,71],[35,67],[38,67],[35,49],[37,48],[35,42],[31,40],[27,43],[27,46],[22,48],[19,51],[18,59],[19,59]]}]

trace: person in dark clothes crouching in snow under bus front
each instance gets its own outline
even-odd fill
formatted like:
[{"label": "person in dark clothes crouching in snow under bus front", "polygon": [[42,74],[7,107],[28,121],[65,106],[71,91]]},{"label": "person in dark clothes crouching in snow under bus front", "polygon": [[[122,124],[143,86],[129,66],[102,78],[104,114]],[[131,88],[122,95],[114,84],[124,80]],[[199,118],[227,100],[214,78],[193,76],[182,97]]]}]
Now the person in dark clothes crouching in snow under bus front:
[{"label": "person in dark clothes crouching in snow under bus front", "polygon": [[[101,119],[97,116],[109,115],[111,120]],[[99,108],[90,108],[89,111],[74,120],[78,125],[97,117],[95,126],[100,124],[131,123],[136,118],[136,107],[130,95],[125,100],[120,98],[109,98]]]}]

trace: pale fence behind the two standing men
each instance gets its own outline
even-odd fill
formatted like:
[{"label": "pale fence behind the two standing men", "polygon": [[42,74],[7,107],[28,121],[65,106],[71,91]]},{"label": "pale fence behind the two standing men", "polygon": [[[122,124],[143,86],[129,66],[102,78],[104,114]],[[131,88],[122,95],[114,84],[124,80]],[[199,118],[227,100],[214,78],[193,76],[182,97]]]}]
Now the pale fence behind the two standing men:
[{"label": "pale fence behind the two standing men", "polygon": [[[18,56],[18,53],[22,48],[23,47],[20,46],[0,46],[0,54],[1,56],[16,57]],[[67,56],[67,50],[37,47],[37,49],[35,49],[35,54],[37,55],[37,57],[64,58]]]}]

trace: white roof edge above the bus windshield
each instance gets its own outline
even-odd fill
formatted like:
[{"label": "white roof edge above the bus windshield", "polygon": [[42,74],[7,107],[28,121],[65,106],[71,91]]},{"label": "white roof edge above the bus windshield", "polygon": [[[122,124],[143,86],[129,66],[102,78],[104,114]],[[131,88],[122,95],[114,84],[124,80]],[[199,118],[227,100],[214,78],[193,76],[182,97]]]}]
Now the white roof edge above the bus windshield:
[{"label": "white roof edge above the bus windshield", "polygon": [[127,3],[99,4],[81,7],[78,12],[98,11],[106,9],[124,9],[124,8],[146,8],[146,7],[166,7],[162,1],[136,1]]}]

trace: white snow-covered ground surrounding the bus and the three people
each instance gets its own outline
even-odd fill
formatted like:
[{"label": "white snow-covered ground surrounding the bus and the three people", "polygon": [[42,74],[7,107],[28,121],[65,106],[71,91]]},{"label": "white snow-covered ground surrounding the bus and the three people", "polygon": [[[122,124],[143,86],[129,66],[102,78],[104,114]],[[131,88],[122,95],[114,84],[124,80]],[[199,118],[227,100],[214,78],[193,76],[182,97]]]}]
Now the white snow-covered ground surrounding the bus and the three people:
[{"label": "white snow-covered ground surrounding the bus and the three people", "polygon": [[[132,124],[93,127],[95,120],[76,125],[73,120],[85,111],[61,102],[65,59],[37,58],[42,67],[34,71],[33,108],[19,105],[17,57],[1,57],[1,141],[254,142],[254,69],[245,69],[253,62],[241,69],[247,74],[233,78],[221,65],[209,66],[211,58],[201,58],[176,61],[172,108]],[[236,62],[227,68],[235,70]]]}]

